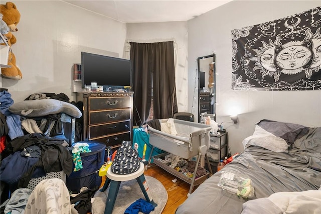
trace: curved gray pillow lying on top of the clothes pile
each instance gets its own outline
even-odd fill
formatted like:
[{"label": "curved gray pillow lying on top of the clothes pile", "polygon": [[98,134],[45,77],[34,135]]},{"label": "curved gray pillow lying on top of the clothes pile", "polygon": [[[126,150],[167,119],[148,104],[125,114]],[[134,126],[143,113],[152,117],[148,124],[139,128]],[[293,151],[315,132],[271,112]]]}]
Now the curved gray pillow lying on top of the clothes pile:
[{"label": "curved gray pillow lying on top of the clothes pile", "polygon": [[75,118],[81,117],[81,112],[75,105],[58,99],[24,100],[12,104],[9,111],[27,117],[42,117],[58,113],[65,113]]}]

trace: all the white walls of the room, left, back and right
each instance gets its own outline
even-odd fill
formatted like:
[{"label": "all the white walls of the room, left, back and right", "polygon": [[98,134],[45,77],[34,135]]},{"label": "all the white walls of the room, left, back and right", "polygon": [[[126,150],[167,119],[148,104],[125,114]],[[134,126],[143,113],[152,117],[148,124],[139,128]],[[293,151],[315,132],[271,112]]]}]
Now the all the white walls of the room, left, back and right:
[{"label": "all the white walls of the room, left, back and right", "polygon": [[[239,113],[240,123],[224,124],[231,153],[261,119],[321,126],[321,91],[233,91],[231,30],[283,18],[320,1],[233,1],[188,22],[123,24],[61,1],[13,1],[21,13],[13,51],[23,79],[2,78],[15,102],[35,92],[63,92],[75,100],[72,65],[81,51],[125,55],[126,39],[177,43],[177,97],[180,112],[191,112],[197,58],[216,53],[217,122]],[[127,32],[126,32],[127,31]]]}]

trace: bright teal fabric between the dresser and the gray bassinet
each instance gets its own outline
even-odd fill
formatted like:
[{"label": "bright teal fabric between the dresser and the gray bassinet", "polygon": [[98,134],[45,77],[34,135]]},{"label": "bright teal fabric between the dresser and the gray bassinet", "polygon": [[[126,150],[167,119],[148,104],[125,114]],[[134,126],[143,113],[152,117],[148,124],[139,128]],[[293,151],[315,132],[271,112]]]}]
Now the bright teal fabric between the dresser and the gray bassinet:
[{"label": "bright teal fabric between the dresser and the gray bassinet", "polygon": [[[144,148],[144,145],[146,144],[146,153],[145,153],[145,159],[148,161],[148,158],[150,156],[150,151],[152,146],[149,144],[149,134],[147,134],[143,128],[134,128],[133,129],[133,144],[132,147],[134,148],[134,144],[138,144],[138,157],[142,158],[142,151]],[[159,155],[161,153],[164,153],[163,150],[154,148],[152,152],[152,156]],[[151,160],[152,163],[152,160]]]}]

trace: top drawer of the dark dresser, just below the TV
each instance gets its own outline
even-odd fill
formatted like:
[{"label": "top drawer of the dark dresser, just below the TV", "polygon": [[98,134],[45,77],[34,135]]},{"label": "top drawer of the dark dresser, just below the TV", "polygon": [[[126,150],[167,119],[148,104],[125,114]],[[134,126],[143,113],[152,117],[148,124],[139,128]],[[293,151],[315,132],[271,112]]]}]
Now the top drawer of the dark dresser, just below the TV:
[{"label": "top drawer of the dark dresser, just below the TV", "polygon": [[131,97],[91,97],[89,98],[89,111],[123,109],[131,107]]}]

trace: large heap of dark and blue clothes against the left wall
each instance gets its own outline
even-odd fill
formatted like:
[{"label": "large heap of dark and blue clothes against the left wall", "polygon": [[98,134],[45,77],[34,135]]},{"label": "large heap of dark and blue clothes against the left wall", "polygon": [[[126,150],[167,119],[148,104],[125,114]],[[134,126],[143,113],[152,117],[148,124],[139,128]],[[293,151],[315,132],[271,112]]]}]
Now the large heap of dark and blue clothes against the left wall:
[{"label": "large heap of dark and blue clothes against the left wall", "polygon": [[[31,94],[25,100],[39,99],[68,102],[69,105],[74,106],[75,111],[80,112],[76,103],[69,102],[69,97],[64,93]],[[72,147],[68,136],[70,130],[66,127],[71,127],[73,116],[63,111],[41,117],[14,114],[10,111],[10,107],[15,103],[12,95],[6,90],[1,91],[0,103],[0,181],[1,204],[3,204],[13,196],[13,192],[27,188],[32,178],[46,176],[50,172],[64,171],[67,176],[71,174]],[[77,138],[75,141],[79,141],[80,124],[76,123],[75,131],[75,138]],[[18,195],[21,194],[26,195],[18,193]],[[4,207],[2,206],[2,209]]]}]

